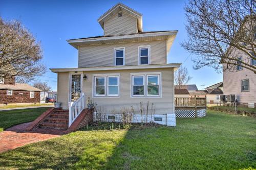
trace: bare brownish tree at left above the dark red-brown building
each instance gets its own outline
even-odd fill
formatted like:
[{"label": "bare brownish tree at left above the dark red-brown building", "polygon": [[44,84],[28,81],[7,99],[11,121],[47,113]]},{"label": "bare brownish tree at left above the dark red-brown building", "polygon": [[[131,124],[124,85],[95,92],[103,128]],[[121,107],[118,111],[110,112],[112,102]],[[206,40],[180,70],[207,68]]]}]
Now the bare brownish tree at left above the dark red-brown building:
[{"label": "bare brownish tree at left above the dark red-brown building", "polygon": [[0,17],[0,75],[32,80],[45,73],[40,43],[20,21]]}]

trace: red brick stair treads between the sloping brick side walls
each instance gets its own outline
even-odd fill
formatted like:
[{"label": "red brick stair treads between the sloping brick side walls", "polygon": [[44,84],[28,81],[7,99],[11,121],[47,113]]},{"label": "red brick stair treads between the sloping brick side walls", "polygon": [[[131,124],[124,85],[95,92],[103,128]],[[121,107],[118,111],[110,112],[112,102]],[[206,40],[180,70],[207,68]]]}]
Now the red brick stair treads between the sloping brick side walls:
[{"label": "red brick stair treads between the sloping brick side walls", "polygon": [[40,128],[68,129],[69,110],[54,110],[44,122],[40,123]]}]

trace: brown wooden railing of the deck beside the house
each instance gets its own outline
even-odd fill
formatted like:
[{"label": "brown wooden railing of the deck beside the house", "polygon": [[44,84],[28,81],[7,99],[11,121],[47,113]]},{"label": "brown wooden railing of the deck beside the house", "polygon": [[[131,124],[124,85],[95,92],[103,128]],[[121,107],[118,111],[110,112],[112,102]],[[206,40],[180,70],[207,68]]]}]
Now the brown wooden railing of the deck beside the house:
[{"label": "brown wooden railing of the deck beside the house", "polygon": [[206,107],[206,96],[205,98],[175,98],[175,106],[181,107]]}]

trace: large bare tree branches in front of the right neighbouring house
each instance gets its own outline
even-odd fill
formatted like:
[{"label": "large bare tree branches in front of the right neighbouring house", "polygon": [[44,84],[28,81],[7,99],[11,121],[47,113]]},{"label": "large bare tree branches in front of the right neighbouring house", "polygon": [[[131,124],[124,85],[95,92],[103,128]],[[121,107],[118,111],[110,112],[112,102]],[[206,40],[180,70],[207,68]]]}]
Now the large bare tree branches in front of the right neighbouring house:
[{"label": "large bare tree branches in front of the right neighbouring house", "polygon": [[[194,69],[211,66],[233,71],[242,66],[256,74],[255,0],[189,0],[184,10],[188,40],[181,45],[197,55]],[[239,57],[245,55],[246,59]]]}]

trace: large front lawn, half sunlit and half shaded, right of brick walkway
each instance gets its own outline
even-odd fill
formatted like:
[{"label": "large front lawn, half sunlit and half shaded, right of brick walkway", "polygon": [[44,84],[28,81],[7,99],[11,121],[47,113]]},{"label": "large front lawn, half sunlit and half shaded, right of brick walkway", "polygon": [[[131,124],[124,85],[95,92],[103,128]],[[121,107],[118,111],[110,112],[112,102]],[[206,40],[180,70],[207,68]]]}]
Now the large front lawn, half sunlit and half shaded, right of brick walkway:
[{"label": "large front lawn, half sunlit and half shaded, right of brick walkway", "polygon": [[177,127],[77,131],[0,154],[0,169],[255,169],[255,125],[208,112]]}]

